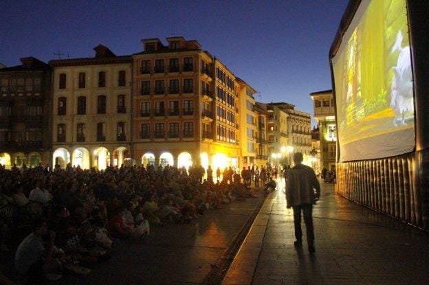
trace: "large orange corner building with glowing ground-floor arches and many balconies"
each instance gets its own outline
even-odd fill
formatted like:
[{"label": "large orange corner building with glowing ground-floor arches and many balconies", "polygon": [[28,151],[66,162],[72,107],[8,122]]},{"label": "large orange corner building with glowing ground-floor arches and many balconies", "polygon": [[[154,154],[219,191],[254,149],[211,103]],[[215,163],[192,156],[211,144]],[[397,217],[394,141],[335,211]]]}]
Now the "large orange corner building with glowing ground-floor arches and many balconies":
[{"label": "large orange corner building with glowing ground-floor arches and many balconies", "polygon": [[133,155],[137,163],[238,166],[239,87],[195,40],[142,40],[133,54]]}]

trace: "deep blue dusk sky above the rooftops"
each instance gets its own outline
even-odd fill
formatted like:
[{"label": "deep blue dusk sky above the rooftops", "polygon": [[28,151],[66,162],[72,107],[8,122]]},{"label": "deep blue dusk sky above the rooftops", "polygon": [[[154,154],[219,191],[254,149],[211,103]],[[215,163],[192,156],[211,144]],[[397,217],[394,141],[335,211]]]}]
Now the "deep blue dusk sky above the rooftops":
[{"label": "deep blue dusk sky above the rooftops", "polygon": [[331,89],[328,52],[347,0],[13,1],[0,4],[0,62],[142,51],[142,38],[196,39],[261,102],[313,113],[309,93]]}]

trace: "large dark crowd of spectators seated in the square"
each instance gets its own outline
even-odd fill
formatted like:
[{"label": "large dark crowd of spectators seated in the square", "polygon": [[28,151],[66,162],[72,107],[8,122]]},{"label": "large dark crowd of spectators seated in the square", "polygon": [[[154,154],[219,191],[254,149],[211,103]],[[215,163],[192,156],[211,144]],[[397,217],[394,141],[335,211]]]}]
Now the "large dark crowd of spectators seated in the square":
[{"label": "large dark crowd of spectators seated in the square", "polygon": [[241,176],[213,182],[202,167],[54,170],[0,165],[0,246],[16,249],[22,280],[89,273],[117,240],[144,240],[151,227],[189,223],[211,208],[252,196]]}]

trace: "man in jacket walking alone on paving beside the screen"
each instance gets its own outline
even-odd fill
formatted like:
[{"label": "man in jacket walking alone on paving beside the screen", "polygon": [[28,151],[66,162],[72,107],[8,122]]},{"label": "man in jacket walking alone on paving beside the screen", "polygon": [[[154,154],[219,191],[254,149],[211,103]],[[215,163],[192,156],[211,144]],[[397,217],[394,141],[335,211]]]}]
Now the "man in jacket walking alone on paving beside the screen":
[{"label": "man in jacket walking alone on paving beside the screen", "polygon": [[[309,253],[314,253],[314,229],[312,210],[320,197],[320,185],[313,168],[303,165],[303,154],[294,153],[294,168],[287,170],[286,205],[294,209],[295,247],[303,246],[303,231],[301,230],[301,211],[304,215],[307,229],[307,244]],[[316,193],[314,193],[316,190]]]}]

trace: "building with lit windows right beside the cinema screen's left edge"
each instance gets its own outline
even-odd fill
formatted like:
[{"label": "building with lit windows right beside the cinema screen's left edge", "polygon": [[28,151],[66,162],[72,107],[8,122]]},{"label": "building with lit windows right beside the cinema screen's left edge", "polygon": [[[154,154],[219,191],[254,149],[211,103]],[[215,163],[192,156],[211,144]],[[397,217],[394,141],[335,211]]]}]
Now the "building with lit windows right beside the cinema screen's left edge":
[{"label": "building with lit windows right beside the cinema screen's left edge", "polygon": [[337,130],[332,90],[310,93],[310,96],[320,133],[320,168],[335,171]]}]

